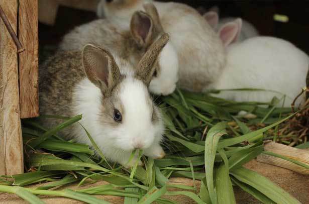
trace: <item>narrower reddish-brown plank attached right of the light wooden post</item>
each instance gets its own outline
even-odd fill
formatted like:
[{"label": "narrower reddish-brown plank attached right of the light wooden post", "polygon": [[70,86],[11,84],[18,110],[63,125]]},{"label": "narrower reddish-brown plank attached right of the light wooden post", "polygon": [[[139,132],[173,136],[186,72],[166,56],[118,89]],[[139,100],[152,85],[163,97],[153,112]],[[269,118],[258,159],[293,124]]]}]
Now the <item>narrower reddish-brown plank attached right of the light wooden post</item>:
[{"label": "narrower reddish-brown plank attached right of the light wooden post", "polygon": [[18,64],[21,118],[33,118],[39,116],[37,0],[19,0],[18,34],[25,48]]}]

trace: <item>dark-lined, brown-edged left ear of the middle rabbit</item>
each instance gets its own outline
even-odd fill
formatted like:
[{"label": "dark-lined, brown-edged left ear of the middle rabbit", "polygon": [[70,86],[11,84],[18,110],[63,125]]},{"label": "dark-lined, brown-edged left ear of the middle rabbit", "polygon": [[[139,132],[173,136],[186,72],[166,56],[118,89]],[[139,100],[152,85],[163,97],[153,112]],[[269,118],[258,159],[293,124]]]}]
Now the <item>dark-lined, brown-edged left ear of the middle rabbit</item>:
[{"label": "dark-lined, brown-edged left ear of the middle rabbit", "polygon": [[148,14],[137,11],[130,24],[131,35],[140,47],[148,47],[152,42],[153,21]]}]

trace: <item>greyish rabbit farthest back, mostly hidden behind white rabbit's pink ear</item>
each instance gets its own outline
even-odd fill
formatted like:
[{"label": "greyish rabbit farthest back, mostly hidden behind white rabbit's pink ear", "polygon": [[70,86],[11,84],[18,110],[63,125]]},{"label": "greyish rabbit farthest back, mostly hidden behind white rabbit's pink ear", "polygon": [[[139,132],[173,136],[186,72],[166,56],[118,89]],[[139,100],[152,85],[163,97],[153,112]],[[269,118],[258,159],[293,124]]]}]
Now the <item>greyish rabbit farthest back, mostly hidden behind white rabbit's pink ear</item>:
[{"label": "greyish rabbit farthest back, mostly hidden behind white rabbit's pink ear", "polygon": [[[206,19],[206,21],[213,27],[213,29],[215,29],[216,32],[219,31],[219,29],[232,21],[235,21],[237,18],[233,18],[233,17],[227,17],[227,18],[221,18],[219,19],[219,9],[211,9],[214,11],[209,11],[205,14],[203,14],[203,17]],[[217,11],[217,12],[215,12]],[[239,34],[239,37],[237,39],[237,42],[241,42],[244,41],[248,38],[253,38],[256,36],[259,36],[259,32],[257,31],[257,29],[248,21],[242,20],[242,29],[241,32]]]}]

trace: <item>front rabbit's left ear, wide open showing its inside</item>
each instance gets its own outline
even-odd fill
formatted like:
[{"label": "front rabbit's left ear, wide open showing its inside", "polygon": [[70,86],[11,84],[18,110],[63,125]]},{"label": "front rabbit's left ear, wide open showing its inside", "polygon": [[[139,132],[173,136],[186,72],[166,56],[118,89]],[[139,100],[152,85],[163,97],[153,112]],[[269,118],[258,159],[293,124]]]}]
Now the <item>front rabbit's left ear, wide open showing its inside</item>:
[{"label": "front rabbit's left ear, wide open showing its inside", "polygon": [[120,70],[112,54],[93,44],[84,46],[82,65],[88,79],[104,94],[113,89],[121,80]]}]

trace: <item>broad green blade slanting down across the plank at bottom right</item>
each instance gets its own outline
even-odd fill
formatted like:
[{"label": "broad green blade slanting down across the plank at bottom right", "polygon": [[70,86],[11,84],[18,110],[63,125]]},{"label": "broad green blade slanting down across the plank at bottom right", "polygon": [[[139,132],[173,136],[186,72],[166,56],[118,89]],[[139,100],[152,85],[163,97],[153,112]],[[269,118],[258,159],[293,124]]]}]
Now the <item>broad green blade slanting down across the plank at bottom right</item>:
[{"label": "broad green blade slanting down across the plank at bottom right", "polygon": [[268,178],[244,167],[230,171],[237,180],[257,189],[276,203],[293,204],[300,202]]}]

